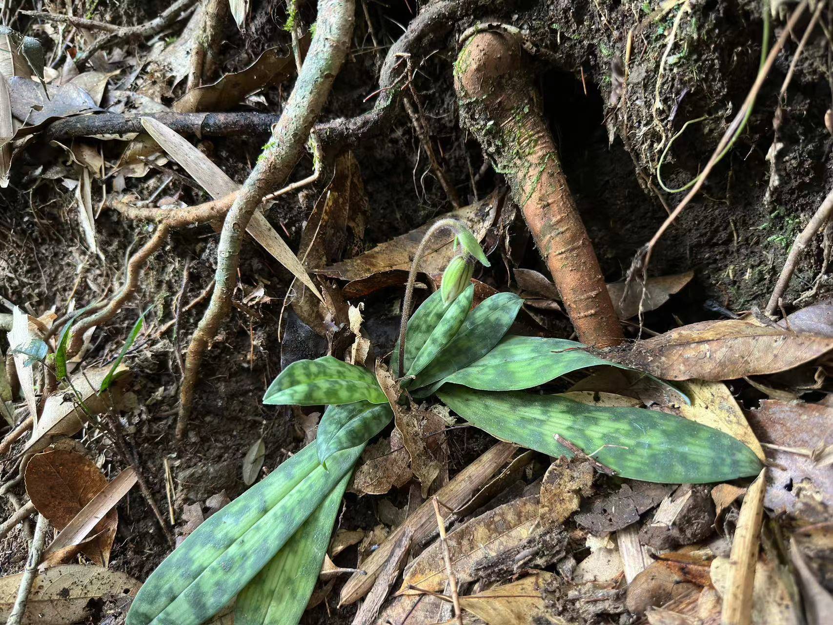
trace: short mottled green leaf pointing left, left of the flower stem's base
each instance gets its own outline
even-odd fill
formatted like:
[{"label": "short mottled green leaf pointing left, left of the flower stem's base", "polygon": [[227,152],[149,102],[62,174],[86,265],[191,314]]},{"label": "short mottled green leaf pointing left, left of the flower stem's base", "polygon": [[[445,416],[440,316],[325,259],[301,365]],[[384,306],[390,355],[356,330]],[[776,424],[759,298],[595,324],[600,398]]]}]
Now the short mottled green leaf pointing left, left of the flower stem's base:
[{"label": "short mottled green leaf pointing left, left of the flower stem's base", "polygon": [[263,403],[317,406],[361,402],[387,403],[385,393],[366,368],[324,356],[299,360],[285,368],[269,385]]}]

